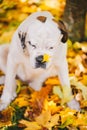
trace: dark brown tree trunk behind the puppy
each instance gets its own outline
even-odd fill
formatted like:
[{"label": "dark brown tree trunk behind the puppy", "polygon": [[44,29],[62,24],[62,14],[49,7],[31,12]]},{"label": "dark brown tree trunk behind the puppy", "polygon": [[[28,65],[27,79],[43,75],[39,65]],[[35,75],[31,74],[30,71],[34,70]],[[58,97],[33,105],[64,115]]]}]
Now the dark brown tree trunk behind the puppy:
[{"label": "dark brown tree trunk behind the puppy", "polygon": [[73,42],[85,39],[86,10],[87,0],[66,0],[63,20]]}]

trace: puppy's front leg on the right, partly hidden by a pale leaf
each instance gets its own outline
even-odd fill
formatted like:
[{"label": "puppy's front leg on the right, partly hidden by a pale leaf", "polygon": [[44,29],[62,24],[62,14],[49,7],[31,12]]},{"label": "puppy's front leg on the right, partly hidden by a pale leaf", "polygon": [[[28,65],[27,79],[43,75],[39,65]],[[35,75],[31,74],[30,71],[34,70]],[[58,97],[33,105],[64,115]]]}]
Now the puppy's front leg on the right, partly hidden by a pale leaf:
[{"label": "puppy's front leg on the right, partly hidden by a pale leaf", "polygon": [[[59,76],[62,86],[68,87],[68,92],[65,94],[66,95],[65,98],[67,98],[72,95],[72,91],[71,91],[70,82],[69,82],[67,61],[66,59],[64,59],[62,62],[63,63],[58,66],[59,67],[58,76]],[[71,101],[69,101],[67,105],[71,109],[80,110],[80,105],[75,99],[72,99]]]}]

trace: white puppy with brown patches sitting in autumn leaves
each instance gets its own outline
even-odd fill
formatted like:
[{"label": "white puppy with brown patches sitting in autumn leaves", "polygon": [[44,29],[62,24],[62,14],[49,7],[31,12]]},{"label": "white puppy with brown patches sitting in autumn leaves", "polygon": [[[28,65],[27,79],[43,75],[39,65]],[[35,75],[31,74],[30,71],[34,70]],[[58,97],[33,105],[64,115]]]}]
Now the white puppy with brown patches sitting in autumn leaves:
[{"label": "white puppy with brown patches sitting in autumn leaves", "polygon": [[[63,22],[57,24],[47,11],[33,13],[18,27],[11,44],[0,47],[0,69],[6,74],[0,110],[5,109],[16,97],[16,76],[29,81],[33,89],[40,90],[48,77],[58,75],[61,85],[67,86],[69,95],[72,94],[66,61],[66,40]],[[68,105],[79,109],[75,100]]]}]

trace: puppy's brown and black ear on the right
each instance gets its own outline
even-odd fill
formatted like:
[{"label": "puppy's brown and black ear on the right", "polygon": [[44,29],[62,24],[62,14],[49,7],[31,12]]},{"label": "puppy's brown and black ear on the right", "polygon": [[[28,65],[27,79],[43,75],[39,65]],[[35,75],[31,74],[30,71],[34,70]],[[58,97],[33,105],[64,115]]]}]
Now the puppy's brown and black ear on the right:
[{"label": "puppy's brown and black ear on the right", "polygon": [[67,32],[67,29],[66,29],[64,23],[61,20],[58,21],[58,28],[61,30],[61,33],[63,35],[61,41],[63,43],[65,43],[68,39],[68,32]]}]

